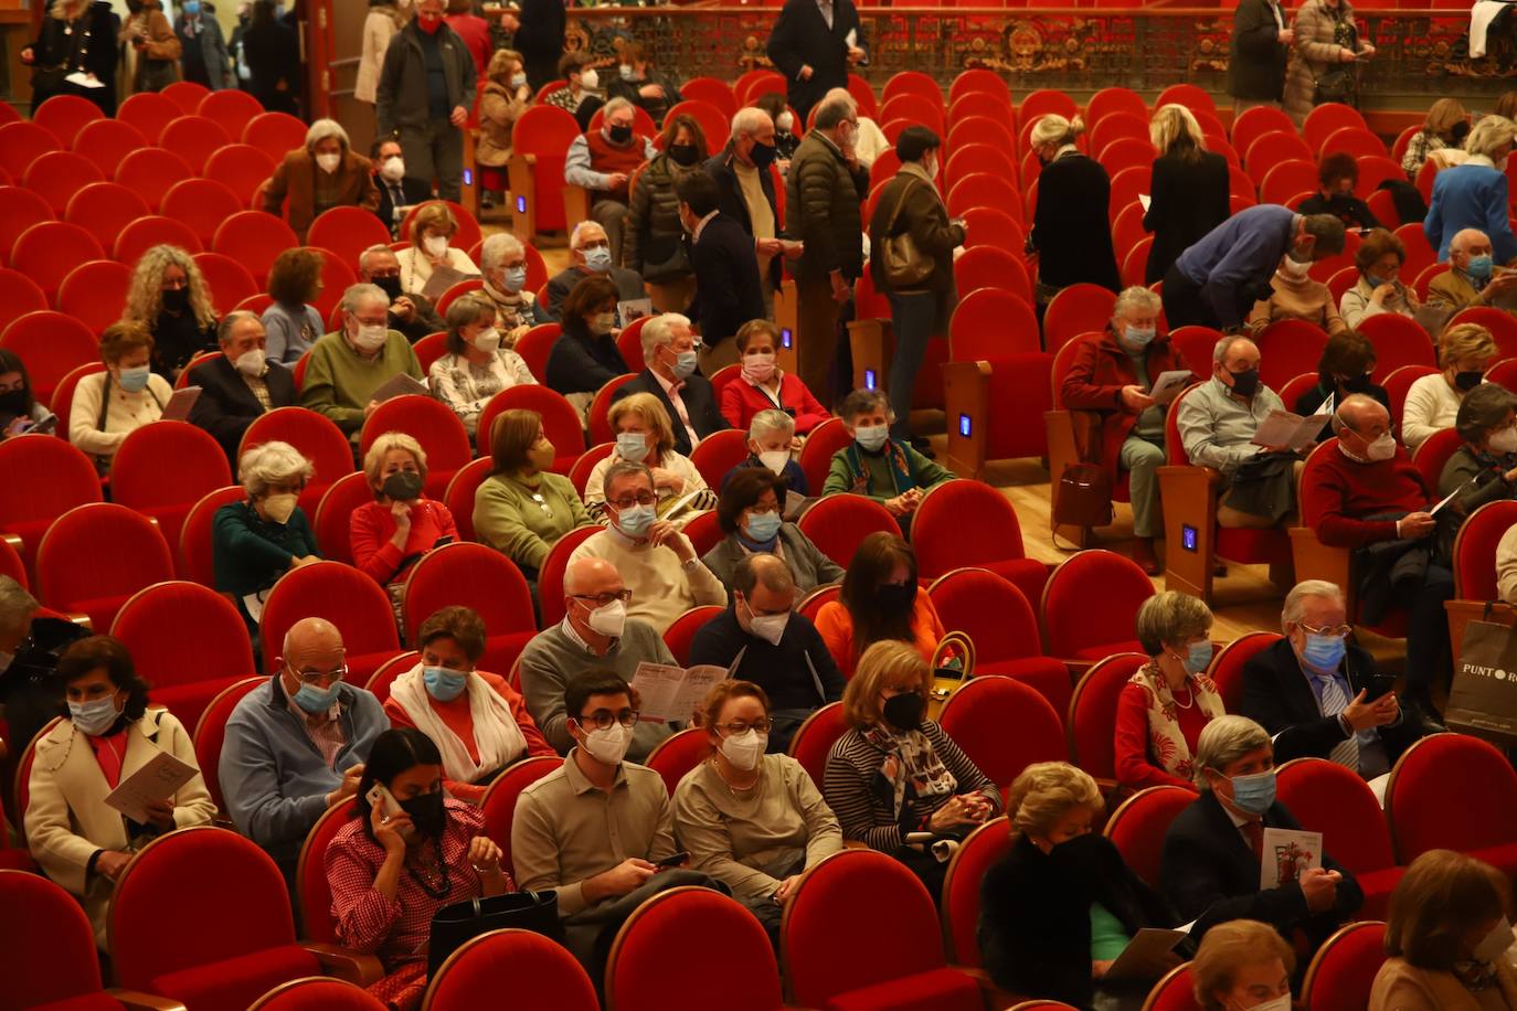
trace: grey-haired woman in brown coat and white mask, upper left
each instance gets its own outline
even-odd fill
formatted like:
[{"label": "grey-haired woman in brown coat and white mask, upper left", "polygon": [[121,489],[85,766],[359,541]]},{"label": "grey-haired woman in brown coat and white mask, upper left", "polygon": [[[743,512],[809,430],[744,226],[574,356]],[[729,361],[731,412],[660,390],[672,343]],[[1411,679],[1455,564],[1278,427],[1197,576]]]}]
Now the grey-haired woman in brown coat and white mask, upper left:
[{"label": "grey-haired woman in brown coat and white mask, upper left", "polygon": [[264,211],[284,212],[294,233],[305,233],[331,208],[379,206],[373,165],[353,150],[337,120],[317,120],[305,132],[305,146],[284,156],[262,188]]}]

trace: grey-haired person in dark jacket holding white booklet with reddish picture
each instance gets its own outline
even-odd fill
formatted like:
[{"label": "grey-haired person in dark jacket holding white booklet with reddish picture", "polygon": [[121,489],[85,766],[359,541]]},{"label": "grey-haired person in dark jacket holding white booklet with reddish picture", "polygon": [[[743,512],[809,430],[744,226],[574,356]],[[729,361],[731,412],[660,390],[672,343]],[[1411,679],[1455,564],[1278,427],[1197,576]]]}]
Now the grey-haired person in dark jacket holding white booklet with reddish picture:
[{"label": "grey-haired person in dark jacket holding white booklet with reddish picture", "polygon": [[1282,937],[1302,931],[1315,949],[1364,903],[1364,891],[1326,852],[1321,867],[1297,881],[1259,887],[1264,829],[1300,829],[1274,800],[1274,753],[1262,726],[1241,715],[1217,717],[1195,746],[1201,796],[1170,825],[1159,891],[1192,938],[1227,920],[1261,920]]}]

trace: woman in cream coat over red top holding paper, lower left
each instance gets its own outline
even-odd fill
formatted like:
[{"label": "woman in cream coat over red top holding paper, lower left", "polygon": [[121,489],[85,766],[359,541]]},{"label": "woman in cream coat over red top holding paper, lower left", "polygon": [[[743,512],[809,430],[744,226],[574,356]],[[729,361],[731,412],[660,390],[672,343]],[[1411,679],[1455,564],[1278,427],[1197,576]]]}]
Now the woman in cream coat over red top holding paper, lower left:
[{"label": "woman in cream coat over red top holding paper, lower left", "polygon": [[58,661],[68,715],[36,743],[26,838],[42,872],[79,897],[106,949],[106,911],[132,853],[156,835],[208,825],[215,814],[200,773],[137,822],[105,799],[168,752],[196,767],[190,732],[164,708],[147,708],[147,685],[109,635],[70,646]]}]

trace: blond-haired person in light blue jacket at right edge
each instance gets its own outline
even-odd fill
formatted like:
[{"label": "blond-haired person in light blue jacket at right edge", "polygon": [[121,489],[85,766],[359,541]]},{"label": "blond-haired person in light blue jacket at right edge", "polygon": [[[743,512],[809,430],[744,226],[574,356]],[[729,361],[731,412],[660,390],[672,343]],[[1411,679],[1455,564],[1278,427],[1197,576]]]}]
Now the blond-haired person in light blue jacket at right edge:
[{"label": "blond-haired person in light blue jacket at right edge", "polygon": [[1464,229],[1481,229],[1491,239],[1497,264],[1517,261],[1517,235],[1508,220],[1506,159],[1517,139],[1517,123],[1485,115],[1464,138],[1462,165],[1446,168],[1432,180],[1432,200],[1423,220],[1427,244],[1438,259],[1449,259],[1449,244]]}]

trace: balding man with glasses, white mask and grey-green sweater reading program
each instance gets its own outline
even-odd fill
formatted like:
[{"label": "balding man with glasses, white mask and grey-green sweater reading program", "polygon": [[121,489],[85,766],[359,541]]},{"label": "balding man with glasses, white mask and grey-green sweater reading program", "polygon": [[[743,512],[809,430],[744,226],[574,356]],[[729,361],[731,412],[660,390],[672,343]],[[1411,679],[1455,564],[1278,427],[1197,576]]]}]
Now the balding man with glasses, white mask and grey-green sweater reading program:
[{"label": "balding man with glasses, white mask and grey-green sweater reading program", "polygon": [[[564,570],[564,620],[539,632],[522,650],[526,709],[560,755],[573,747],[564,688],[576,675],[592,667],[610,668],[631,684],[642,662],[675,662],[654,626],[627,617],[628,596],[611,562],[601,558],[570,562]],[[639,723],[627,758],[643,761],[669,734],[669,726]]]}]

